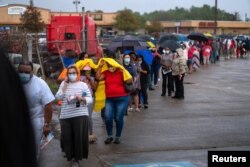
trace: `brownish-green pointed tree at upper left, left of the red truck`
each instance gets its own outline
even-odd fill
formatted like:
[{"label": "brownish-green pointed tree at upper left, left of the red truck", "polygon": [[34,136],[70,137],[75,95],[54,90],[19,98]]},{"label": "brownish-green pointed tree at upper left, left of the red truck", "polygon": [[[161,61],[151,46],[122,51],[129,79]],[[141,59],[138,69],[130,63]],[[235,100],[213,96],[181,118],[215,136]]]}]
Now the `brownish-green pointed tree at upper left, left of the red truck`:
[{"label": "brownish-green pointed tree at upper left, left of the red truck", "polygon": [[32,0],[20,20],[22,22],[21,27],[31,33],[41,32],[45,26],[41,18],[41,13],[34,7]]}]

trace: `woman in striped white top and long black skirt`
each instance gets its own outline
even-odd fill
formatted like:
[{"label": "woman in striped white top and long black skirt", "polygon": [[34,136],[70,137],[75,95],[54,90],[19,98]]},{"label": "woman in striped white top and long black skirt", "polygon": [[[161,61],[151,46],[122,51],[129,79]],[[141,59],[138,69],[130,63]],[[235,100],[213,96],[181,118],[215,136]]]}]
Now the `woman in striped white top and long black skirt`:
[{"label": "woman in striped white top and long black skirt", "polygon": [[71,166],[88,158],[88,105],[93,102],[88,85],[80,81],[75,65],[67,68],[67,77],[61,83],[56,98],[62,100],[60,114],[61,147]]}]

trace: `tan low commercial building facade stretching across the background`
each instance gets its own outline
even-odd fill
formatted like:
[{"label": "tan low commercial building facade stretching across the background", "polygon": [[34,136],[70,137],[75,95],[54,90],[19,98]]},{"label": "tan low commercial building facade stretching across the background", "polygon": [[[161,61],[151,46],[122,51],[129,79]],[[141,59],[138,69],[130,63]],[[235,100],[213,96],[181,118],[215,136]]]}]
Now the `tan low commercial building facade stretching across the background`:
[{"label": "tan low commercial building facade stretching across the background", "polygon": [[[0,6],[0,30],[17,27],[20,25],[21,14],[27,5],[10,4]],[[45,24],[50,24],[52,15],[82,15],[81,12],[54,12],[45,8],[37,8],[41,12]],[[97,34],[101,31],[114,31],[114,23],[117,13],[85,13],[90,15],[96,23]],[[148,23],[150,24],[150,22]],[[191,31],[214,32],[214,22],[206,20],[187,20],[180,22],[161,21],[163,31],[168,33],[188,34]],[[218,21],[216,25],[217,34],[250,34],[250,22],[242,21]]]}]

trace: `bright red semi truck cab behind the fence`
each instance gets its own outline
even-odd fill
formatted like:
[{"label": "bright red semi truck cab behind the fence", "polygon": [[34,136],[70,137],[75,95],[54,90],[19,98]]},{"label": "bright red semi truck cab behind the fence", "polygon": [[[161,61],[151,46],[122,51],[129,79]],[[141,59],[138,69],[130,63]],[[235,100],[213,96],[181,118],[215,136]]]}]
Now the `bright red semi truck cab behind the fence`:
[{"label": "bright red semi truck cab behind the fence", "polygon": [[88,55],[101,56],[102,49],[96,38],[96,25],[88,15],[52,15],[47,26],[48,51],[87,52]]}]

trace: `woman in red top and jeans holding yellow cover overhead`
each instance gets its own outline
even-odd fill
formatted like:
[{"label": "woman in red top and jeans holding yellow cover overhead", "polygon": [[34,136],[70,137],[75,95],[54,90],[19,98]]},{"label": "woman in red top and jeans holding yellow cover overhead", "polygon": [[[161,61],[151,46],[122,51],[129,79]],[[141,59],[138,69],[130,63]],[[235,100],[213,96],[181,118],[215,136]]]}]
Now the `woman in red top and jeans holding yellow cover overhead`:
[{"label": "woman in red top and jeans holding yellow cover overhead", "polygon": [[[128,74],[127,78],[124,74]],[[129,95],[125,90],[124,83],[130,84],[132,76],[118,62],[112,58],[100,60],[96,72],[96,79],[105,81],[105,112],[104,119],[107,131],[105,144],[120,144],[120,138],[124,126],[124,114],[128,108]],[[115,139],[113,138],[113,122],[116,123]]]}]

